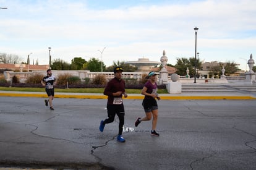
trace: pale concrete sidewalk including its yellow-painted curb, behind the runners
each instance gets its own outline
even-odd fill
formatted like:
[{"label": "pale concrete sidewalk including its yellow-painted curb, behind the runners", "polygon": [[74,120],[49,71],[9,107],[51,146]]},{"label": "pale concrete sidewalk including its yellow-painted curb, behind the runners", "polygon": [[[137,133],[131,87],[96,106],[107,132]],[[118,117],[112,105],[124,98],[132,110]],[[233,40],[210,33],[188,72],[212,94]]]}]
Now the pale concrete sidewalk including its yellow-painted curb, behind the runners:
[{"label": "pale concrete sidewalk including its yellow-painted curb, behind the runners", "polygon": [[[0,91],[0,96],[47,97],[45,92]],[[106,99],[101,93],[55,93],[55,98]],[[181,94],[160,94],[161,100],[255,100],[256,93],[236,92],[182,92]],[[129,100],[142,100],[143,95],[128,94]]]}]

